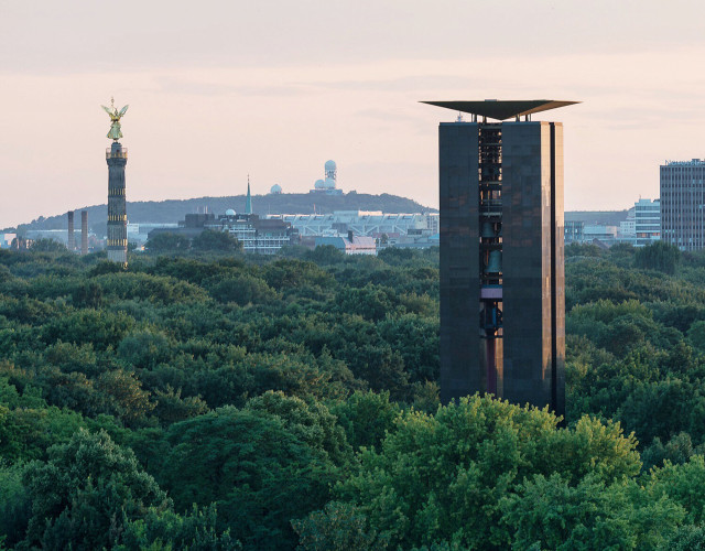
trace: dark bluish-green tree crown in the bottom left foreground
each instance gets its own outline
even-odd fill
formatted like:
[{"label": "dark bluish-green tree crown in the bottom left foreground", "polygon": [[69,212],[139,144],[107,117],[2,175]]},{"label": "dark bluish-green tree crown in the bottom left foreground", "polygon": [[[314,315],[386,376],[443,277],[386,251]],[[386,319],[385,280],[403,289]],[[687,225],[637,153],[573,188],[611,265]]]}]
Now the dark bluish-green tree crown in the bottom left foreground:
[{"label": "dark bluish-green tree crown in the bottom left foreground", "polygon": [[80,430],[51,447],[48,461],[28,465],[24,485],[32,511],[24,543],[42,549],[111,548],[127,521],[170,506],[134,455],[105,432]]}]

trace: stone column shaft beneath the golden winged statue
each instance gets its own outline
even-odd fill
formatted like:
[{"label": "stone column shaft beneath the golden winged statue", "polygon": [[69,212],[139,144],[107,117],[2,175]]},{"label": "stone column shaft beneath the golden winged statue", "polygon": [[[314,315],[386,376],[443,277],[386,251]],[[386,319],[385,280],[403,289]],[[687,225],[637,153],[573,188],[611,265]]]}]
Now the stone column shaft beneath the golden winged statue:
[{"label": "stone column shaft beneath the golden winged statue", "polygon": [[124,165],[128,150],[118,141],[106,150],[108,162],[108,260],[128,264],[128,215],[124,195]]}]

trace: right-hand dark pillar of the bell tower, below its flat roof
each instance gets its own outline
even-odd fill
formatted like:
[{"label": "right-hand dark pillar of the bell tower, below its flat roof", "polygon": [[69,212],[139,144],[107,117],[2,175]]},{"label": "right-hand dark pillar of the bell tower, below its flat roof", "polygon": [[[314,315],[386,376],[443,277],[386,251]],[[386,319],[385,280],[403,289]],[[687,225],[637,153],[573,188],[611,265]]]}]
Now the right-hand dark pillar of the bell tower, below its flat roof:
[{"label": "right-hand dark pillar of the bell tower, below its flat roof", "polygon": [[564,415],[562,126],[502,127],[503,397]]}]

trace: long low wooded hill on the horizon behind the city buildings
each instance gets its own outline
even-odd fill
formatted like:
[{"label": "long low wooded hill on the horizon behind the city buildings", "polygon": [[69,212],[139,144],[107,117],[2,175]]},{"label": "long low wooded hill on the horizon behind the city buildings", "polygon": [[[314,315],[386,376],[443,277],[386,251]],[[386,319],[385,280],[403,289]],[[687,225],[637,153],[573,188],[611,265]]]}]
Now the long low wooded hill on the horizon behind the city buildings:
[{"label": "long low wooded hill on the horizon behind the city buildings", "polygon": [[[184,215],[208,208],[209,213],[224,214],[228,208],[245,212],[245,195],[229,197],[198,197],[193,199],[138,201],[128,202],[128,218],[134,224],[169,224],[184,219]],[[281,195],[252,196],[254,214],[327,214],[334,210],[382,210],[384,213],[437,213],[437,209],[420,205],[415,201],[398,195],[370,195],[350,192],[346,195],[318,195],[308,193],[282,193]],[[88,226],[102,235],[108,219],[107,205],[76,208],[76,228],[80,228],[79,210],[88,210]],[[66,214],[40,217],[29,224],[21,224],[18,231],[28,229],[64,229]]]}]

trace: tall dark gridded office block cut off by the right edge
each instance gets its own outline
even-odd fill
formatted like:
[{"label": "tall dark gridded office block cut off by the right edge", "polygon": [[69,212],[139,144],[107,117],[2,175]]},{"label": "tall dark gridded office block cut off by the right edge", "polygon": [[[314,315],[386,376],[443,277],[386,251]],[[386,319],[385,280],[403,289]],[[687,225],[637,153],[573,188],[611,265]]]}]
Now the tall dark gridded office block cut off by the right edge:
[{"label": "tall dark gridded office block cut off by the right edge", "polygon": [[681,250],[705,246],[705,160],[666,161],[660,169],[661,239]]}]

